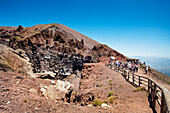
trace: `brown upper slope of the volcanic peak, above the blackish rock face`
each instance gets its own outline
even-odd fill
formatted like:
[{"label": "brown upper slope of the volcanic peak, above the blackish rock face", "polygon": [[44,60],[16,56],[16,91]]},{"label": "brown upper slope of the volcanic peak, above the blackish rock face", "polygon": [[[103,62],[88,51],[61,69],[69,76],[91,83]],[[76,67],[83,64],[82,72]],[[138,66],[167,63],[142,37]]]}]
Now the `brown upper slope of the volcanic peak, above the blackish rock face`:
[{"label": "brown upper slope of the volcanic peak, above the blackish rock face", "polygon": [[116,50],[62,24],[35,25],[32,27],[0,27],[0,43],[14,49],[43,48],[62,53],[82,54],[92,57],[110,57],[126,60]]}]

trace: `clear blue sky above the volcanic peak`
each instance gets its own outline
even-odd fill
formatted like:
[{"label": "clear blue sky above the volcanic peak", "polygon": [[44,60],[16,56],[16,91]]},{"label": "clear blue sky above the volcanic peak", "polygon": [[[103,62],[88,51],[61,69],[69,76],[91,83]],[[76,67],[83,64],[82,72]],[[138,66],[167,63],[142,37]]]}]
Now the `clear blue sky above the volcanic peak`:
[{"label": "clear blue sky above the volcanic peak", "polygon": [[0,0],[0,26],[66,25],[126,56],[170,58],[170,0]]}]

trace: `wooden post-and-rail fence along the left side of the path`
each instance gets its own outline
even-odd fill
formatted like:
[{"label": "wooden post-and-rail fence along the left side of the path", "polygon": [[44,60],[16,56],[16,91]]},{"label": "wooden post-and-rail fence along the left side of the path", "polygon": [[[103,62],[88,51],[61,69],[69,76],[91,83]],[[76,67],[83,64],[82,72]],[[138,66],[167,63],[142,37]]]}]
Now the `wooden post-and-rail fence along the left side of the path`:
[{"label": "wooden post-and-rail fence along the left side of the path", "polygon": [[140,76],[130,72],[129,70],[122,69],[113,65],[106,64],[110,69],[114,69],[122,73],[124,78],[135,87],[143,87],[148,92],[148,101],[153,112],[170,113],[170,92],[151,80],[148,77]]}]

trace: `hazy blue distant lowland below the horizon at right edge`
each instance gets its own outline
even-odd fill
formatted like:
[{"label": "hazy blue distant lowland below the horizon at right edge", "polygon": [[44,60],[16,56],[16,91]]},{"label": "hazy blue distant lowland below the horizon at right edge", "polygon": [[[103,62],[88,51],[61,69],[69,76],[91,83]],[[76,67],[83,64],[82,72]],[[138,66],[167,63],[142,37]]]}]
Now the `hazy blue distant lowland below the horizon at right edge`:
[{"label": "hazy blue distant lowland below the horizon at right edge", "polygon": [[143,57],[134,56],[134,58],[139,58],[141,62],[145,62],[146,65],[156,69],[157,71],[170,76],[170,59],[169,58],[159,58],[159,57]]}]

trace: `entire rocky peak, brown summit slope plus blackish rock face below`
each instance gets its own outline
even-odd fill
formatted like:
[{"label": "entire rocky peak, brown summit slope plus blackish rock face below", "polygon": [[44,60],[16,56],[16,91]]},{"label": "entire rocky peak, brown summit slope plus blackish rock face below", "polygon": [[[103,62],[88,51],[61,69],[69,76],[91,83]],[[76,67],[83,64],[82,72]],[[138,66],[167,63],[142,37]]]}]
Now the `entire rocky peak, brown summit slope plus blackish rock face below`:
[{"label": "entire rocky peak, brown summit slope plus blackish rock face below", "polygon": [[117,51],[61,24],[0,27],[0,43],[17,50],[41,78],[64,78],[80,71],[83,62],[103,62],[110,56],[126,60]]}]

